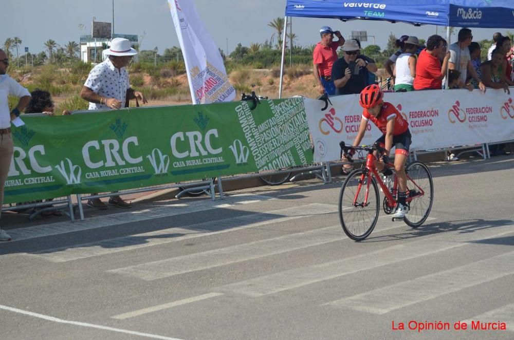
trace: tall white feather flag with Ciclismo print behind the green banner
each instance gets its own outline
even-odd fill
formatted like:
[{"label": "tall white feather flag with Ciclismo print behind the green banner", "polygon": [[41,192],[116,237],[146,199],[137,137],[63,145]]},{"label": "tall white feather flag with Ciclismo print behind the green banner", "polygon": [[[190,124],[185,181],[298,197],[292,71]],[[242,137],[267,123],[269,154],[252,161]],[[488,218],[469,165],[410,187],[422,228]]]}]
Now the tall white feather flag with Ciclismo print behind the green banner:
[{"label": "tall white feather flag with Ciclismo print behind the green banner", "polygon": [[192,0],[168,0],[188,73],[193,104],[235,98],[218,47],[200,21]]}]

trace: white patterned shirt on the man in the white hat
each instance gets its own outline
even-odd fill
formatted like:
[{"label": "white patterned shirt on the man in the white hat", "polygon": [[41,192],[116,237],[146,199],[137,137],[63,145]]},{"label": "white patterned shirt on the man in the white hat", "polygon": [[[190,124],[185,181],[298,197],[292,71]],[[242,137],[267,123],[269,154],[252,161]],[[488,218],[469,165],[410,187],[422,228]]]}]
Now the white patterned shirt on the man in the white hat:
[{"label": "white patterned shirt on the man in the white hat", "polygon": [[[86,79],[84,86],[104,98],[116,98],[125,105],[126,91],[130,88],[128,72],[122,67],[118,70],[109,58],[95,66]],[[109,109],[105,104],[89,102],[89,110]]]}]

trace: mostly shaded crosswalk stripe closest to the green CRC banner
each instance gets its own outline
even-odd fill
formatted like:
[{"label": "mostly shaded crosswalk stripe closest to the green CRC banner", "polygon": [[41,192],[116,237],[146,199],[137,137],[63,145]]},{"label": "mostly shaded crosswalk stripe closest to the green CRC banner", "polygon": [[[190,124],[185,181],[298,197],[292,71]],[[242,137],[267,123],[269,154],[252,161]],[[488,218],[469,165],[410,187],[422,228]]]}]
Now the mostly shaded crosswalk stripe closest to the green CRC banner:
[{"label": "mostly shaded crosswalk stripe closest to the green CRC banner", "polygon": [[29,226],[27,228],[9,230],[9,235],[12,237],[12,240],[9,243],[33,239],[36,237],[74,233],[79,231],[102,228],[105,226],[139,222],[160,217],[190,214],[200,211],[218,209],[222,207],[230,207],[237,204],[248,204],[255,202],[255,200],[249,201],[249,196],[251,196],[252,198],[256,197],[257,201],[276,199],[270,196],[239,194],[227,196],[224,199],[223,203],[219,203],[217,201],[213,202],[211,200],[202,200],[200,202],[194,202],[194,204],[164,204],[158,207],[151,207],[148,209],[138,211],[129,211],[111,215],[89,217],[84,221],[63,221],[57,223],[41,224],[38,226]]}]

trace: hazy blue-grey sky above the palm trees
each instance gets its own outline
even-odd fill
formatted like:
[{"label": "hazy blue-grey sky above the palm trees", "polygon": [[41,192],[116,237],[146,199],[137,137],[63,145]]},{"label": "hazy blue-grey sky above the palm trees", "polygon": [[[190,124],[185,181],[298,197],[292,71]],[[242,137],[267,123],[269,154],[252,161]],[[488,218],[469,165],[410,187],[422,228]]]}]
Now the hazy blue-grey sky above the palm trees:
[{"label": "hazy blue-grey sky above the palm trees", "polygon": [[[285,0],[190,0],[210,31],[214,42],[229,52],[237,43],[249,46],[262,43],[274,33],[267,24],[278,16],[283,17]],[[0,45],[8,37],[18,36],[22,40],[21,53],[29,47],[31,53],[44,50],[48,39],[65,45],[68,41],[79,41],[80,35],[90,34],[93,16],[96,21],[112,21],[113,0],[2,0],[0,12]],[[157,47],[159,53],[165,48],[178,46],[166,0],[114,0],[116,33],[137,34],[141,49]],[[79,25],[84,25],[83,29]],[[297,44],[308,46],[319,41],[319,28],[328,25],[340,30],[347,37],[351,31],[368,31],[374,35],[377,45],[384,48],[389,34],[416,35],[427,39],[435,34],[435,26],[414,27],[408,24],[391,24],[375,21],[340,22],[336,19],[295,17],[293,32],[298,36]],[[458,29],[457,29],[458,30]],[[504,29],[473,29],[475,41],[492,39],[495,31]],[[443,34],[443,28],[437,29]],[[456,37],[452,36],[452,41]],[[373,37],[363,47],[373,44]]]}]

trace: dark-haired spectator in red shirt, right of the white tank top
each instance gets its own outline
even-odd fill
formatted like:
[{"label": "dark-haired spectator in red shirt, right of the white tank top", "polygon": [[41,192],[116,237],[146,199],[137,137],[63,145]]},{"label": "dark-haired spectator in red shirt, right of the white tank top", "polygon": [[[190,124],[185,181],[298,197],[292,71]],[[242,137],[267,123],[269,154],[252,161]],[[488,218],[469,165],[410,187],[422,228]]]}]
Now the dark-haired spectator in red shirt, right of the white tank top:
[{"label": "dark-haired spectator in red shirt, right of the white tank top", "polygon": [[[428,38],[427,48],[419,53],[416,63],[415,90],[442,88],[442,80],[446,75],[450,59],[447,47],[446,40],[440,35],[434,34]],[[440,59],[443,59],[443,64]]]}]

